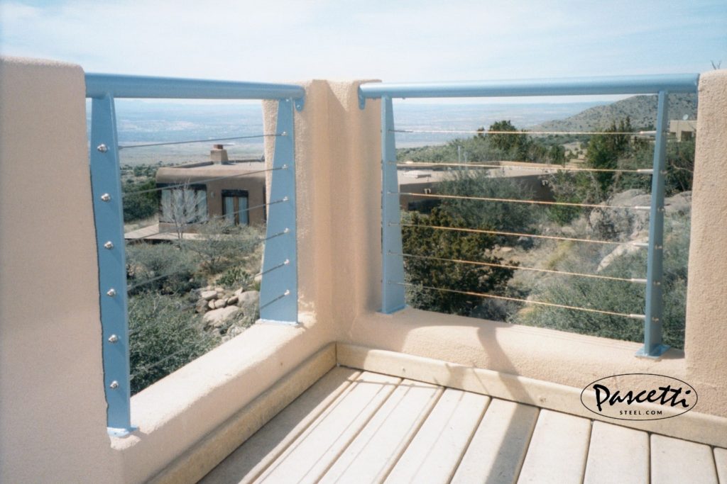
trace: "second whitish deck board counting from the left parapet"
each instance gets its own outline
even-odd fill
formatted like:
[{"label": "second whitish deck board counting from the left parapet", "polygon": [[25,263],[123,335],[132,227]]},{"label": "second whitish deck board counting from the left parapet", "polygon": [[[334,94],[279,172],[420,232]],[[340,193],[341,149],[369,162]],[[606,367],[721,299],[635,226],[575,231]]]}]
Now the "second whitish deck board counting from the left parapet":
[{"label": "second whitish deck board counting from the left parapet", "polygon": [[255,482],[317,482],[399,382],[398,377],[362,373]]}]

